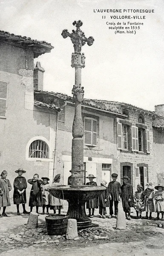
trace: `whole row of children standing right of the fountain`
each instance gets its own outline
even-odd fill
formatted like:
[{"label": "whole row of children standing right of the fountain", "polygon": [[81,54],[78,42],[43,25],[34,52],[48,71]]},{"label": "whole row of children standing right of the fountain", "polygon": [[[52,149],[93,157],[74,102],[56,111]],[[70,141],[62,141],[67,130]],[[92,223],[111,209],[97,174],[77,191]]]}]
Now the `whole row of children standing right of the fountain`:
[{"label": "whole row of children standing right of the fountain", "polygon": [[[130,208],[134,207],[136,210],[137,218],[141,218],[141,213],[146,211],[146,219],[152,219],[152,212],[157,212],[157,218],[159,220],[159,215],[161,213],[161,220],[164,220],[164,186],[158,184],[155,189],[158,190],[154,192],[152,188],[152,183],[147,183],[147,189],[143,191],[140,184],[137,185],[137,191],[133,195],[132,185],[129,183],[129,177],[123,176],[123,185],[121,186],[117,180],[118,175],[116,173],[112,174],[112,181],[106,187],[106,181],[101,181],[101,186],[106,187],[106,190],[98,198],[93,198],[86,202],[86,208],[89,209],[88,217],[94,217],[95,208],[99,207],[100,218],[106,218],[106,207],[109,207],[109,218],[113,217],[113,203],[115,207],[115,218],[118,215],[118,202],[122,200],[123,210],[125,212],[126,218],[131,220]],[[93,181],[96,178],[94,175],[88,175],[89,182],[86,185],[97,186],[97,183]],[[154,201],[155,199],[155,206]],[[91,214],[92,209],[92,214]],[[148,217],[148,213],[150,213]]]}]

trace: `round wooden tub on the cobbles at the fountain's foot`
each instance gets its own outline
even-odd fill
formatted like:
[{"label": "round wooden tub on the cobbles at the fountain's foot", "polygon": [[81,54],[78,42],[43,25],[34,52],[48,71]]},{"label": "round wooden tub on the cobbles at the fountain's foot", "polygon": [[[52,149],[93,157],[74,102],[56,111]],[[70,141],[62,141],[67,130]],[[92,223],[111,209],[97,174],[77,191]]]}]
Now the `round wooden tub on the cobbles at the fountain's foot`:
[{"label": "round wooden tub on the cobbles at the fountain's foot", "polygon": [[66,234],[68,217],[63,214],[48,215],[45,217],[49,236]]}]

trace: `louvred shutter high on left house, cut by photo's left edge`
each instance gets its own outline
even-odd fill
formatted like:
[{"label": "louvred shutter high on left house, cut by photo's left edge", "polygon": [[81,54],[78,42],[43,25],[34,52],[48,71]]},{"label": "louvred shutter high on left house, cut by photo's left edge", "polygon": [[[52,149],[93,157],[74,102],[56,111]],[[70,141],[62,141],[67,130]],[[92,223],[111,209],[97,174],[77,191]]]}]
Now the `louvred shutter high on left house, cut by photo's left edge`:
[{"label": "louvred shutter high on left house, cut by photo's left edge", "polygon": [[0,116],[6,116],[6,99],[8,83],[0,81]]}]

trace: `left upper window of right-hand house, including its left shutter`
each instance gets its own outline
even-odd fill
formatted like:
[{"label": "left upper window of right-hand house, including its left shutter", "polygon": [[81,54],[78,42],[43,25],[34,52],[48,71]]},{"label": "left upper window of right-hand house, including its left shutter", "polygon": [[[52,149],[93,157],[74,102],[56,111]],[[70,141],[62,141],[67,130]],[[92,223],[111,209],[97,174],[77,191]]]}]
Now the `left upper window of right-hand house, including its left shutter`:
[{"label": "left upper window of right-hand house, including its left shutter", "polygon": [[117,124],[118,149],[128,150],[128,127],[121,123]]}]

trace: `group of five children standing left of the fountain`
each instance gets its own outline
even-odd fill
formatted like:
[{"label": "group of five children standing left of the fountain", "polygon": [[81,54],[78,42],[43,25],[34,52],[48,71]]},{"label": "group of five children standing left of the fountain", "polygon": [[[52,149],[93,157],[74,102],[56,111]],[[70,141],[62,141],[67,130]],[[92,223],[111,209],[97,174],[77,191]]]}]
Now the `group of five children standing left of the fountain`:
[{"label": "group of five children standing left of the fountain", "polygon": [[[14,204],[17,205],[17,215],[20,215],[20,204],[23,206],[23,214],[29,214],[25,208],[27,182],[26,178],[22,176],[26,171],[20,168],[15,172],[18,174],[18,176],[14,179],[13,201]],[[6,207],[11,205],[9,192],[12,189],[12,185],[6,178],[6,171],[3,171],[0,176],[0,209],[3,207],[2,216],[7,217],[5,211]],[[41,179],[42,180],[39,180],[39,175],[35,174],[32,179],[28,180],[28,183],[32,185],[29,198],[30,212],[32,212],[33,207],[36,207],[36,212],[38,213],[38,208],[42,207],[42,214],[45,214],[45,208],[47,214],[49,214],[49,208],[54,210],[54,214],[58,209],[58,213],[60,214],[60,210],[63,209],[63,201],[49,194],[49,188],[59,185],[60,174],[55,176],[52,186],[49,186],[48,177],[42,177]]]}]

